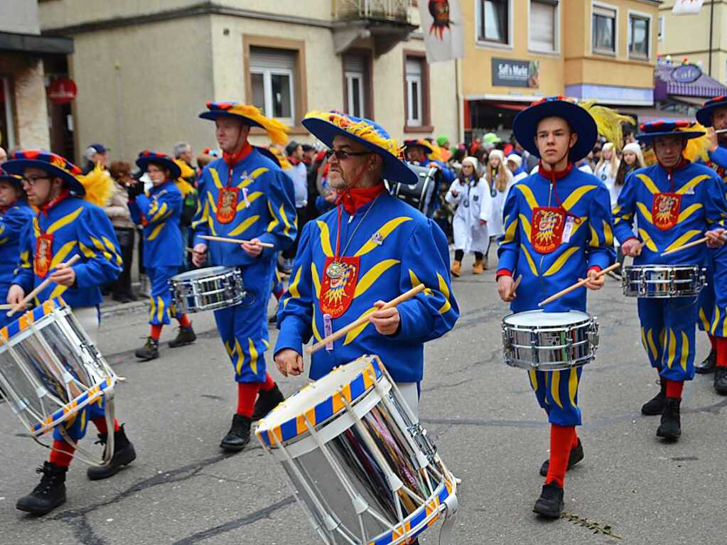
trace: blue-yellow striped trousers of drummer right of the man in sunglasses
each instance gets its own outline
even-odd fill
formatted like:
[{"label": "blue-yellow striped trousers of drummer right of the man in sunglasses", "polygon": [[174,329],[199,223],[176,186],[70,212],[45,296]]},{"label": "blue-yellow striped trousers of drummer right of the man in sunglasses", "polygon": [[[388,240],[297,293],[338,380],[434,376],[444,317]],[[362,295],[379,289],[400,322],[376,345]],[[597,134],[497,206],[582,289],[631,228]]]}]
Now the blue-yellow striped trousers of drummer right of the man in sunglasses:
[{"label": "blue-yellow striped trousers of drummer right of the man in sunglasses", "polygon": [[538,404],[547,413],[547,421],[558,426],[580,426],[578,384],[583,368],[566,371],[528,371],[530,387]]}]

